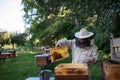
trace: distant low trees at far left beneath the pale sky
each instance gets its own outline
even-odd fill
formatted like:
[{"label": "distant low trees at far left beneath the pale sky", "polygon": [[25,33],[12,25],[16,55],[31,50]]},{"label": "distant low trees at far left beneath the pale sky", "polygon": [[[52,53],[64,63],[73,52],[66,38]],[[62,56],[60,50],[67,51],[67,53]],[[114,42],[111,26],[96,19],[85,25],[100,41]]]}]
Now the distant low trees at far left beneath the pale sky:
[{"label": "distant low trees at far left beneath the pale sky", "polygon": [[15,47],[15,44],[17,46],[24,46],[27,38],[26,33],[10,33],[7,31],[1,31],[0,32],[0,48],[2,48],[5,45],[11,45],[13,48]]}]

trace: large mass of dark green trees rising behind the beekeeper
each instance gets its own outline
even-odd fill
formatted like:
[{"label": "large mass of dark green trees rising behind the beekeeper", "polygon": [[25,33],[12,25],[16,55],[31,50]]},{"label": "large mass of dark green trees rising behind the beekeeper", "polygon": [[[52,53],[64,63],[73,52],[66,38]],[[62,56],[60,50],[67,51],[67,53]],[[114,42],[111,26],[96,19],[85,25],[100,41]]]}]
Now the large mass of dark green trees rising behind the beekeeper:
[{"label": "large mass of dark green trees rising behind the beekeeper", "polygon": [[95,33],[99,50],[109,52],[109,36],[120,36],[119,0],[22,0],[33,41],[54,45],[82,27]]}]

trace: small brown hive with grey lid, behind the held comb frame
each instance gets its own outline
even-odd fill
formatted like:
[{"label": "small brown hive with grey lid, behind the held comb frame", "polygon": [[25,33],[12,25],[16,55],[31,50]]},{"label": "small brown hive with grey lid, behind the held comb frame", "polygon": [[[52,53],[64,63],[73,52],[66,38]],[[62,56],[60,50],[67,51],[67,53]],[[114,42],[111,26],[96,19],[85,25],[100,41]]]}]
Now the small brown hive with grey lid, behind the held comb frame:
[{"label": "small brown hive with grey lid, behind the held comb frame", "polygon": [[39,54],[35,57],[38,66],[45,66],[51,62],[50,54]]}]

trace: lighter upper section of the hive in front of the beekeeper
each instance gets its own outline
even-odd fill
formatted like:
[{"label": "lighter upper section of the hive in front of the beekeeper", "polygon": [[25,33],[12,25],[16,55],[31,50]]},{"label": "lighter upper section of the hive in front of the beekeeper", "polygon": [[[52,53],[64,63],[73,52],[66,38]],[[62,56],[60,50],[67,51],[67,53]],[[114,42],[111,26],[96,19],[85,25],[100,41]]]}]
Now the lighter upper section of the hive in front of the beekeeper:
[{"label": "lighter upper section of the hive in front of the beekeeper", "polygon": [[88,75],[88,67],[82,63],[62,63],[55,67],[55,75]]}]

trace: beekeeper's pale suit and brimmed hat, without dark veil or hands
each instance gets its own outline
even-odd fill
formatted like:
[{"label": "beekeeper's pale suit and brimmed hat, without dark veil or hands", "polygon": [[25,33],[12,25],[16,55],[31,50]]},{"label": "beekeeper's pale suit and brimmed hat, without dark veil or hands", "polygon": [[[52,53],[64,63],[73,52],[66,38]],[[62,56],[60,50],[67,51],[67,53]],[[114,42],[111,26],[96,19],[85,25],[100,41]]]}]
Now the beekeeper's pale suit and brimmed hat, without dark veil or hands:
[{"label": "beekeeper's pale suit and brimmed hat, without dark veil or hands", "polygon": [[[87,30],[80,30],[80,32],[75,33],[75,37],[78,38],[86,38],[90,37],[93,34],[90,32],[85,32]],[[84,34],[85,33],[85,34]],[[91,40],[91,45],[80,48],[75,44],[76,40],[59,40],[56,45],[68,45],[69,48],[72,50],[72,63],[88,63],[87,58],[93,57],[94,62],[97,61],[98,58],[98,48],[94,44],[93,40]]]}]

